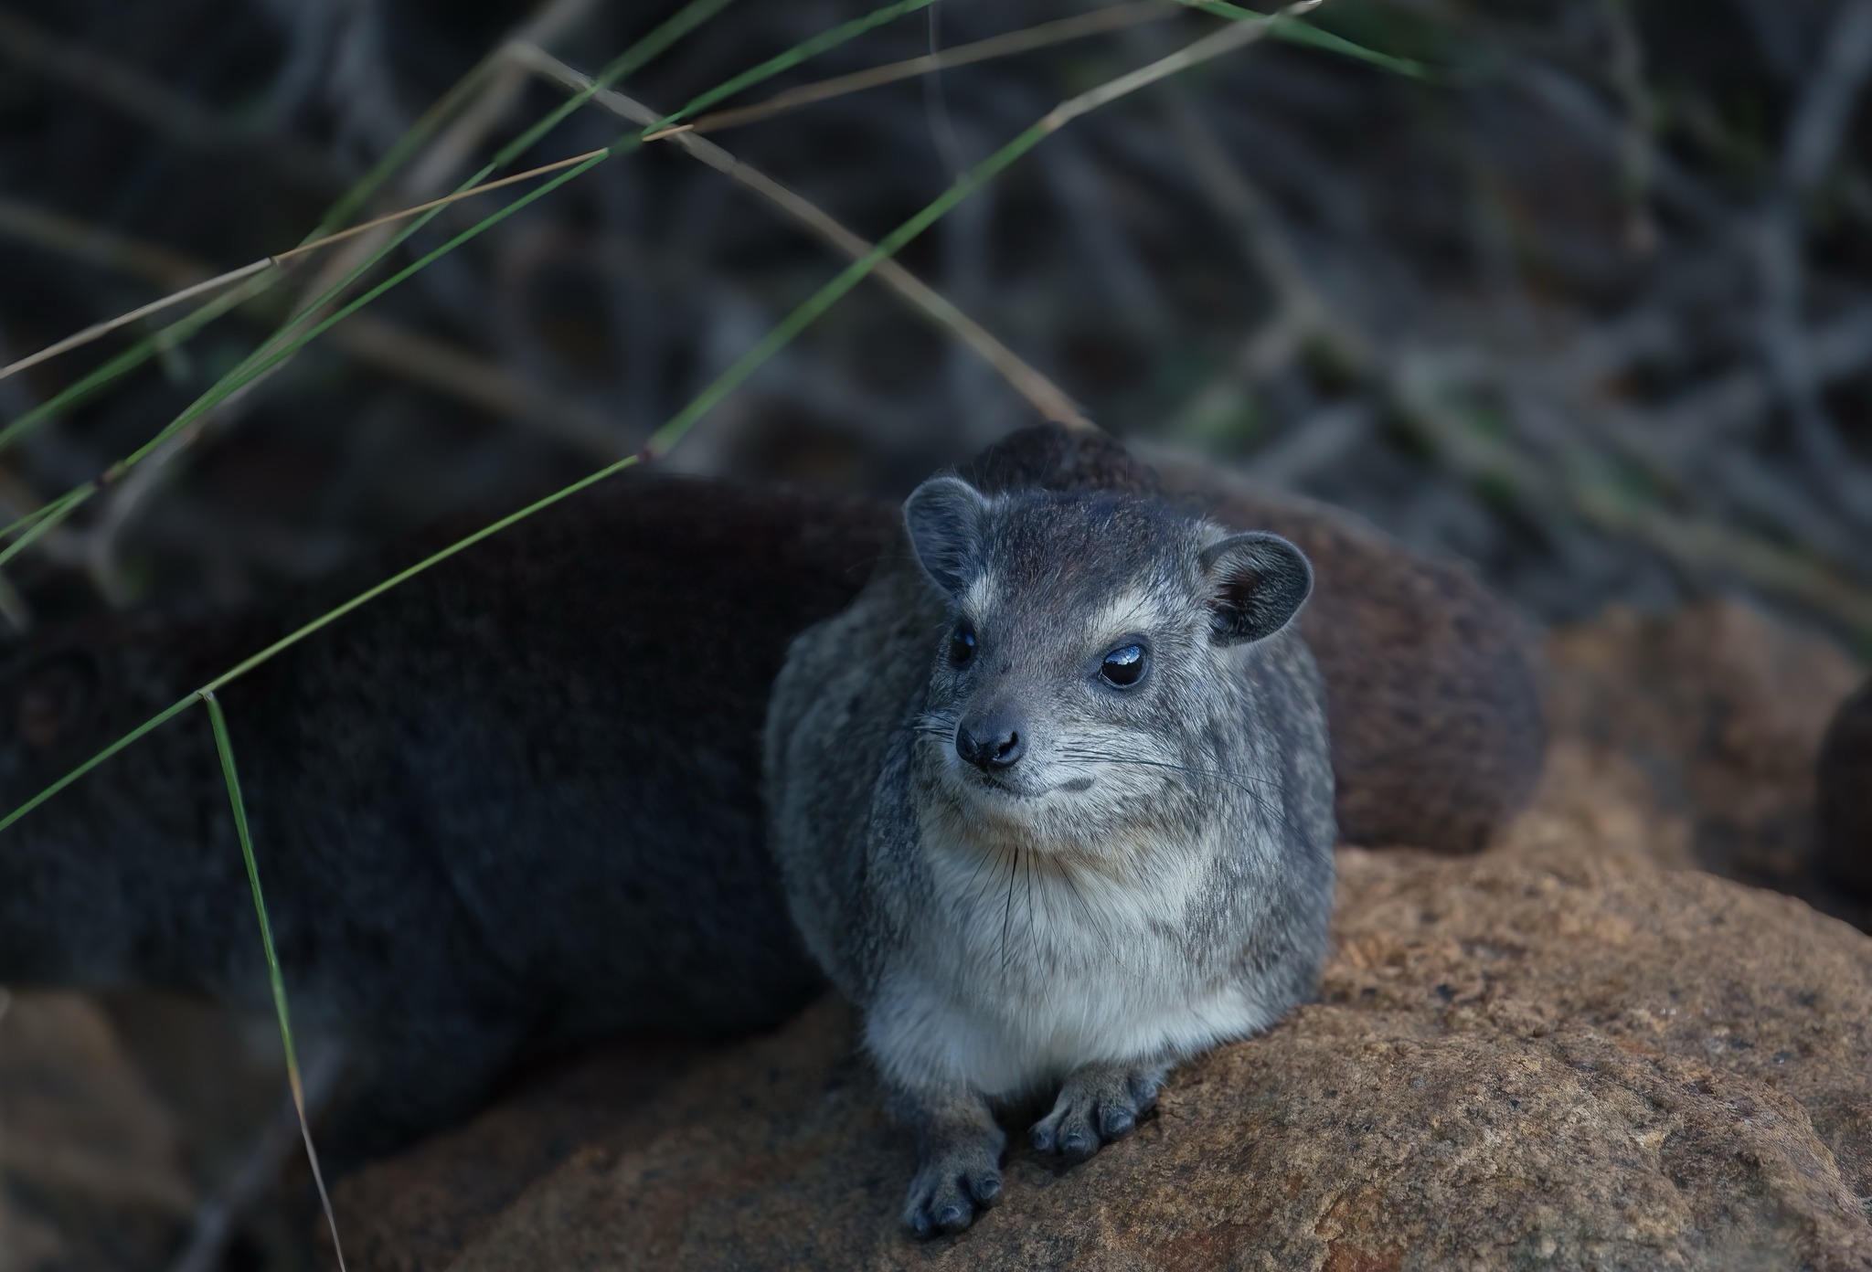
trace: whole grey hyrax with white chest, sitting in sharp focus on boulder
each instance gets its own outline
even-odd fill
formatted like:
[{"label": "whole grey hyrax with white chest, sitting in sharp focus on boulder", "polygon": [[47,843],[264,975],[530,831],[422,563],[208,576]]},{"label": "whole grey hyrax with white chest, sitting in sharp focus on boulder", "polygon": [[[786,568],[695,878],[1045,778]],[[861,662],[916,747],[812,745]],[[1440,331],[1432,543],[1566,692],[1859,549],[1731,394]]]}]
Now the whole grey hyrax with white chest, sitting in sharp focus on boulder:
[{"label": "whole grey hyrax with white chest, sitting in sharp focus on boulder", "polygon": [[1284,539],[1134,494],[955,477],[807,630],[768,720],[794,918],[919,1145],[904,1220],[1000,1197],[1000,1102],[1043,1150],[1127,1134],[1168,1068],[1314,986],[1333,903],[1320,677]]}]

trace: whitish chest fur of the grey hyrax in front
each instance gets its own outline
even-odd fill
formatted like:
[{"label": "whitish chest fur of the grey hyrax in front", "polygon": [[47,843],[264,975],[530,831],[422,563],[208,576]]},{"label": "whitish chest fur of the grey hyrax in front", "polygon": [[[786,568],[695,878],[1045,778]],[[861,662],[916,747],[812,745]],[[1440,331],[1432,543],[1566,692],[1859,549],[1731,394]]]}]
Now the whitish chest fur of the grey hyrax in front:
[{"label": "whitish chest fur of the grey hyrax in front", "polygon": [[936,902],[910,918],[906,958],[867,1018],[872,1053],[899,1081],[1016,1096],[1088,1062],[1202,1051],[1277,1016],[1226,960],[1191,954],[1219,885],[1211,851],[1138,846],[1114,853],[1123,866],[1093,868],[925,849]]}]

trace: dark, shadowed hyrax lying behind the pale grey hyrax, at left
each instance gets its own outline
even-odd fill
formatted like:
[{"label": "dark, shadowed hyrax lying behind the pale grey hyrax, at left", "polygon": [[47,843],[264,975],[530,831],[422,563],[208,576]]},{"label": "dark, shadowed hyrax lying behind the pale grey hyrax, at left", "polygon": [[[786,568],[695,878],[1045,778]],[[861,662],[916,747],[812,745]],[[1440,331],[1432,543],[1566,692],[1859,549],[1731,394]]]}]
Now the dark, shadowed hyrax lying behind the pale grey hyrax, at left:
[{"label": "dark, shadowed hyrax lying behind the pale grey hyrax, at left", "polygon": [[[766,851],[760,726],[876,505],[633,477],[444,561],[221,690],[301,1025],[354,1083],[328,1158],[472,1109],[524,1046],[739,1033],[822,980]],[[245,615],[47,632],[0,666],[0,808],[417,559]],[[200,709],[0,832],[0,984],[268,1005]]]}]

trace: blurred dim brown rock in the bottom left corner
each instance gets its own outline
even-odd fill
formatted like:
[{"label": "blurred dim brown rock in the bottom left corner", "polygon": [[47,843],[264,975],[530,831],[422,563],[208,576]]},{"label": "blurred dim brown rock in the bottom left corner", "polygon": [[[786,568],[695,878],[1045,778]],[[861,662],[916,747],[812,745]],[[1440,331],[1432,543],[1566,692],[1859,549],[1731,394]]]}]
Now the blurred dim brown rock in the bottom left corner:
[{"label": "blurred dim brown rock in the bottom left corner", "polygon": [[[300,1048],[318,1053],[314,1029]],[[144,991],[0,991],[0,1270],[170,1266],[285,1085],[264,1018]],[[241,1266],[305,1266],[309,1193],[294,1180],[241,1208]]]}]

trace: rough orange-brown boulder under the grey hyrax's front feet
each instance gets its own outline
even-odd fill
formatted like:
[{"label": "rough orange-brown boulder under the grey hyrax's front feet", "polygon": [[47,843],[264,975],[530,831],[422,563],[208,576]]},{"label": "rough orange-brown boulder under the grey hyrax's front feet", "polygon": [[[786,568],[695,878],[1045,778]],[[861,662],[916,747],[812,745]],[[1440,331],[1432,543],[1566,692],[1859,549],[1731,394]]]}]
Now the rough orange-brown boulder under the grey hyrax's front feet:
[{"label": "rough orange-brown boulder under the grey hyrax's front feet", "polygon": [[1318,1005],[1084,1165],[1016,1149],[953,1240],[897,1231],[910,1147],[829,1003],[648,1098],[588,1083],[601,1130],[509,1201],[440,1225],[412,1180],[524,1139],[517,1107],[352,1178],[341,1223],[363,1265],[461,1272],[1872,1268],[1872,939],[1543,844],[1346,849]]}]

